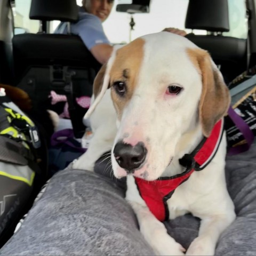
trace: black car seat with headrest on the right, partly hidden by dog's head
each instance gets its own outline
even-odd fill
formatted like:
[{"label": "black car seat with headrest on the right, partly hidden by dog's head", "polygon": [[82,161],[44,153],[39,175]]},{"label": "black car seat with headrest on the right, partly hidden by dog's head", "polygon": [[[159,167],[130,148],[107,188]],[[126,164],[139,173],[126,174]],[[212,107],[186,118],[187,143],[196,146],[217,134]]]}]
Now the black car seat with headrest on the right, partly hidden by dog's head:
[{"label": "black car seat with headrest on the right, partly hidden by dog's head", "polygon": [[185,27],[207,30],[186,37],[211,54],[227,84],[246,70],[246,39],[222,35],[229,31],[227,0],[190,0]]}]

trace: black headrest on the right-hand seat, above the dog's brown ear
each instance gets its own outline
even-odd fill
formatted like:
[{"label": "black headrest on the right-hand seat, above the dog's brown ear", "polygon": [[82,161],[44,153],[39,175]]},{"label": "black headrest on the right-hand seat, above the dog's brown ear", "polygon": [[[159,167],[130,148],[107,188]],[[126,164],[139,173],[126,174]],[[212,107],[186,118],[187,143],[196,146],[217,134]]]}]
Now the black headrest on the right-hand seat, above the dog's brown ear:
[{"label": "black headrest on the right-hand seat, above the dog's brown ear", "polygon": [[227,0],[190,0],[185,28],[229,31]]}]

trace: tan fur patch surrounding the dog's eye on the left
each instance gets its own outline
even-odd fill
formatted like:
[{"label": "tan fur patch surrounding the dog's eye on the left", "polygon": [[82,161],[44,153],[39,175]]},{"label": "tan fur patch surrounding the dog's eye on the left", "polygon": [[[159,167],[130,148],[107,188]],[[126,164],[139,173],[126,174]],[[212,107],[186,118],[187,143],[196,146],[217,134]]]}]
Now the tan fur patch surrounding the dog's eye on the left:
[{"label": "tan fur patch surrounding the dog's eye on the left", "polygon": [[138,81],[141,63],[143,60],[143,46],[145,41],[141,38],[135,39],[128,45],[117,50],[116,58],[110,70],[110,85],[114,82],[125,82],[127,92],[120,97],[115,90],[111,89],[111,97],[116,108],[118,118],[121,117],[126,103],[131,99]]}]

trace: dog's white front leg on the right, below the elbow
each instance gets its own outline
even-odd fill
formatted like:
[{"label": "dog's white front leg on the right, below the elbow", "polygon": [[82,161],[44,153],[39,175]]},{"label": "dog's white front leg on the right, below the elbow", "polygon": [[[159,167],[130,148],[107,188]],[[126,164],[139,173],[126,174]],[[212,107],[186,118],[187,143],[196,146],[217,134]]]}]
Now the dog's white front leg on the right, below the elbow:
[{"label": "dog's white front leg on the right, below the elbow", "polygon": [[234,212],[202,219],[198,237],[190,244],[186,255],[214,255],[220,234],[234,219]]}]

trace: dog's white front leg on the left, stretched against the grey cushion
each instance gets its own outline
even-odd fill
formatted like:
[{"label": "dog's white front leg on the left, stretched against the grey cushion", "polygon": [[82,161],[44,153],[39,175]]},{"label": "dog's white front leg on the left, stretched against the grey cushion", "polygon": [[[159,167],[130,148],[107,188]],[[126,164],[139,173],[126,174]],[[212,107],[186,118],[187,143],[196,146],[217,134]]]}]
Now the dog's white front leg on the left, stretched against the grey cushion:
[{"label": "dog's white front leg on the left, stretched against the grey cushion", "polygon": [[167,234],[164,224],[150,212],[139,195],[134,178],[130,176],[127,177],[126,200],[137,215],[143,237],[156,255],[185,255],[185,249]]}]

